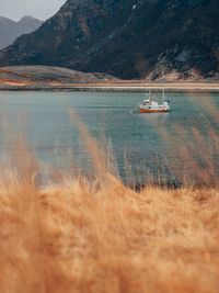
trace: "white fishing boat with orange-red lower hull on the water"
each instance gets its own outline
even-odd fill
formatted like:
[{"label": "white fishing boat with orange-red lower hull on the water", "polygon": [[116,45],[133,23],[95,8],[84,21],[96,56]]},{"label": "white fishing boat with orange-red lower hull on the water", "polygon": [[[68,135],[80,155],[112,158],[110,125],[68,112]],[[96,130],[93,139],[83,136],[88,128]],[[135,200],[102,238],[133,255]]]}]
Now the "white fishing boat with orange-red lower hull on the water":
[{"label": "white fishing boat with orange-red lower hull on the water", "polygon": [[151,91],[146,93],[147,99],[139,105],[139,113],[166,113],[170,112],[170,101],[165,99],[164,90],[162,91],[162,103],[151,100]]}]

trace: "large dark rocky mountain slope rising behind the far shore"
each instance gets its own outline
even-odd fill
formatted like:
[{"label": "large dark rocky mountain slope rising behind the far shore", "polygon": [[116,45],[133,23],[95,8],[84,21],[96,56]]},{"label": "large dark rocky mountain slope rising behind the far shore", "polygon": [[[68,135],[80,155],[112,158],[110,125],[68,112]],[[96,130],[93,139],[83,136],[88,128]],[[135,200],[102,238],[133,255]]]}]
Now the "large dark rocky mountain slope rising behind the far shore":
[{"label": "large dark rocky mountain slope rising behind the far shore", "polygon": [[68,0],[0,54],[0,66],[49,65],[134,79],[219,77],[218,0]]}]

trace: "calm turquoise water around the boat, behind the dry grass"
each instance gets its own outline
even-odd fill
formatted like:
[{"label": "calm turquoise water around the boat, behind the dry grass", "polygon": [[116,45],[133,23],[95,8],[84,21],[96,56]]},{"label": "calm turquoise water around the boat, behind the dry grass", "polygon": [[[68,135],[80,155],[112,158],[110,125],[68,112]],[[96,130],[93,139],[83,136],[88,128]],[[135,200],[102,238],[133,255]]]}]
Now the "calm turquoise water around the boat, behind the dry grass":
[{"label": "calm turquoise water around the boat, behind the dry grass", "polygon": [[[157,98],[159,101],[161,93]],[[124,181],[145,182],[151,176],[175,180],[188,174],[197,160],[204,168],[210,168],[205,160],[214,160],[217,177],[218,153],[209,128],[218,134],[219,95],[166,93],[166,98],[170,113],[134,114],[142,93],[1,92],[1,125],[7,124],[12,136],[25,134],[44,166],[90,172],[91,156],[69,113],[73,110],[104,151],[113,154],[114,169]],[[9,150],[16,151],[4,128],[0,132],[1,159]],[[193,128],[201,139],[194,137]]]}]

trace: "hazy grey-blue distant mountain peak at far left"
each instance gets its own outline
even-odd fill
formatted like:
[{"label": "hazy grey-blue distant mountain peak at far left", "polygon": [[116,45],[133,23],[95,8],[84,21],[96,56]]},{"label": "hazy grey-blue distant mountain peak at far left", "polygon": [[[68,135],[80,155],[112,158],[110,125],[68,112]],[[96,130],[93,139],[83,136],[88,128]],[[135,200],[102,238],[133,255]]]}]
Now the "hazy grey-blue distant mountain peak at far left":
[{"label": "hazy grey-blue distant mountain peak at far left", "polygon": [[0,48],[11,45],[22,34],[37,30],[42,23],[32,16],[24,16],[18,22],[0,16]]}]

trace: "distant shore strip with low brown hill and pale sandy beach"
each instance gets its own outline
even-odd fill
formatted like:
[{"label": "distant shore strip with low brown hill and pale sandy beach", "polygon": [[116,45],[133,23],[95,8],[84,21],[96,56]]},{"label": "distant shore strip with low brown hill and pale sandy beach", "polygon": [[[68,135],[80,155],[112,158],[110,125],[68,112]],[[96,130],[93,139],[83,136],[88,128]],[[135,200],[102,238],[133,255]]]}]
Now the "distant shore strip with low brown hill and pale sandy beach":
[{"label": "distant shore strip with low brown hill and pale sandy beach", "polygon": [[0,91],[219,92],[219,78],[199,80],[122,80],[97,72],[49,66],[0,67]]}]

